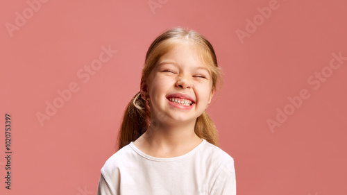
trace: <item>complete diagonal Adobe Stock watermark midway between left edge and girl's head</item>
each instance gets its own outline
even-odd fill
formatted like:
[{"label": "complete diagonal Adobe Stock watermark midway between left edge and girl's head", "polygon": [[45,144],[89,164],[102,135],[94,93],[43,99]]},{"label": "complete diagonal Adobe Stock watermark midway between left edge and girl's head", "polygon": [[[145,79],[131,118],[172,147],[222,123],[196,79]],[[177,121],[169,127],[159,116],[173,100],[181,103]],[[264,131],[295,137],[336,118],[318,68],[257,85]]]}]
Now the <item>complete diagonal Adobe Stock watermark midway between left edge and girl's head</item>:
[{"label": "complete diagonal Adobe Stock watermark midway between left edge and girl's head", "polygon": [[[77,78],[81,79],[82,83],[87,83],[92,76],[94,76],[97,71],[99,71],[103,65],[110,61],[110,59],[117,53],[116,50],[111,49],[109,44],[106,48],[101,46],[101,53],[99,53],[99,58],[92,60],[90,65],[84,65],[83,68],[78,69],[76,72]],[[65,105],[65,102],[69,101],[73,93],[78,92],[81,89],[80,85],[77,82],[70,82],[66,90],[56,90],[57,96],[53,101],[46,101],[45,112],[36,112],[35,115],[37,120],[40,122],[41,126],[44,126],[44,121],[51,119],[58,109],[62,108]]]}]

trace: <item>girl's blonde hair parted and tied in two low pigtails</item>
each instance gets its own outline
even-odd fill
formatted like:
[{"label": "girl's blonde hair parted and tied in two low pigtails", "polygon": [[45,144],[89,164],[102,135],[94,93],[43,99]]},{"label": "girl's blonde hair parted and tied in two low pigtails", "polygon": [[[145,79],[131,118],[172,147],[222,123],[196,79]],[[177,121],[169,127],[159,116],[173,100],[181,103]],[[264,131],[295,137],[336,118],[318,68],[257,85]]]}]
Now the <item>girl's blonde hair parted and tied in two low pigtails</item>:
[{"label": "girl's blonde hair parted and tied in two low pigtails", "polygon": [[[169,52],[174,46],[189,42],[197,49],[198,55],[210,67],[212,78],[212,90],[219,90],[221,85],[221,69],[217,64],[217,57],[210,42],[194,31],[187,31],[184,28],[172,28],[157,37],[146,53],[144,68],[142,69],[141,85],[146,83],[151,71],[154,69],[159,58]],[[141,97],[141,92],[137,92],[128,103],[124,112],[121,130],[118,134],[119,149],[140,137],[151,124],[151,112],[149,105]],[[198,137],[218,146],[218,132],[212,119],[206,110],[197,119],[194,132]]]}]

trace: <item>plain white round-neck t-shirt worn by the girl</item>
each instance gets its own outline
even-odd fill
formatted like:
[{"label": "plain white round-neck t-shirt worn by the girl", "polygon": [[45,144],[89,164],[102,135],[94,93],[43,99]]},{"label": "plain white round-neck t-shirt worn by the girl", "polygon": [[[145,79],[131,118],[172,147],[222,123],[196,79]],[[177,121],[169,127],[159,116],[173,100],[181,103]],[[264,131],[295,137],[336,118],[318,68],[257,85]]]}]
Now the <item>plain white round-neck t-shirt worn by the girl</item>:
[{"label": "plain white round-neck t-shirt worn by the girl", "polygon": [[234,160],[202,139],[192,151],[155,158],[130,144],[103,165],[98,195],[235,195]]}]

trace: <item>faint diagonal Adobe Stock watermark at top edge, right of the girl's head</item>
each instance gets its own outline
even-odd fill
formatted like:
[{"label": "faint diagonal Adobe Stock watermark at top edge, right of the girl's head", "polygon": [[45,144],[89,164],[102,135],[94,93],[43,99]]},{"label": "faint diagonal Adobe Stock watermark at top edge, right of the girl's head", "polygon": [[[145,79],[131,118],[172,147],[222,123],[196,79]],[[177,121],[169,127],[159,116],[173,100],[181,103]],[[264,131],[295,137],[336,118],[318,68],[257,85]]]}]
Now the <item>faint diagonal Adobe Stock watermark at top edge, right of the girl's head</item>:
[{"label": "faint diagonal Adobe Stock watermark at top edge, right of the girl's head", "polygon": [[239,41],[244,44],[244,38],[251,37],[251,34],[255,33],[257,28],[264,24],[265,19],[269,19],[269,17],[271,17],[273,10],[278,10],[278,8],[280,8],[280,4],[277,0],[270,0],[269,6],[265,6],[264,8],[257,7],[259,14],[255,15],[252,20],[248,17],[246,18],[246,32],[239,28],[237,28],[235,31]]}]

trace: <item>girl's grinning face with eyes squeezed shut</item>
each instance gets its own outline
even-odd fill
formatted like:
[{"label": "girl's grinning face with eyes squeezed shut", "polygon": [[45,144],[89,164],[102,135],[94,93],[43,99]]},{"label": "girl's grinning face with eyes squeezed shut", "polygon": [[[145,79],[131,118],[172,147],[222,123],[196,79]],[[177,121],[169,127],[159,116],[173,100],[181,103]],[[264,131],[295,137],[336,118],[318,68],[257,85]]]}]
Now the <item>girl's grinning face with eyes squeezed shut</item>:
[{"label": "girl's grinning face with eyes squeezed shut", "polygon": [[160,57],[147,87],[151,117],[160,121],[195,123],[214,94],[209,68],[188,42]]}]

